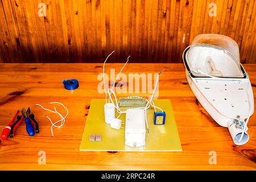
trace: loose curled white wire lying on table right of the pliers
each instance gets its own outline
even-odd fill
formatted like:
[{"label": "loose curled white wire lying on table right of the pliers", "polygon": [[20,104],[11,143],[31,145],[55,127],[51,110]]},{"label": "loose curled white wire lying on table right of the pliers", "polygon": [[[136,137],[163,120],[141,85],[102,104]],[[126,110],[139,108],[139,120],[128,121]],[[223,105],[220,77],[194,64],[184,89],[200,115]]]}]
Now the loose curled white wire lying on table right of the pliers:
[{"label": "loose curled white wire lying on table right of the pliers", "polygon": [[[56,113],[56,114],[58,114],[58,115],[60,116],[61,119],[60,119],[59,121],[54,122],[54,123],[52,122],[52,120],[51,120],[48,116],[46,116],[46,118],[47,118],[47,119],[49,120],[49,122],[51,122],[51,124],[52,124],[52,126],[51,126],[51,133],[52,133],[52,137],[53,137],[53,130],[52,130],[52,128],[53,128],[53,127],[56,127],[57,129],[60,129],[60,127],[65,124],[65,118],[67,118],[67,116],[68,116],[68,109],[67,109],[67,107],[64,106],[64,104],[61,104],[60,102],[50,102],[50,104],[60,104],[61,106],[63,106],[63,107],[67,110],[67,113],[66,113],[65,117],[63,117],[63,115],[61,115],[61,114],[56,110],[56,107],[54,107],[54,110],[55,110],[55,111],[53,111],[53,110],[49,110],[49,109],[44,108],[44,107],[43,107],[42,105],[40,105],[40,104],[36,104],[36,106],[40,106],[40,107],[42,107],[42,109],[47,110],[47,111],[50,111],[50,112],[52,112],[52,113]],[[61,122],[61,123],[60,123],[59,126],[57,126],[56,124],[59,123],[59,122]]]}]

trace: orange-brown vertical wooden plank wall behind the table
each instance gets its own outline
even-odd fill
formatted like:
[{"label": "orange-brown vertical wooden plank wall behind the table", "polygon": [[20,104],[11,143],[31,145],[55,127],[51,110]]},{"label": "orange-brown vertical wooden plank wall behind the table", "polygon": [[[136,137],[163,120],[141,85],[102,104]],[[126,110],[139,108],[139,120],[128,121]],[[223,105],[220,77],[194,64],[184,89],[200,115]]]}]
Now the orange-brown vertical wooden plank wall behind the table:
[{"label": "orange-brown vertical wooden plank wall behind the table", "polygon": [[255,0],[0,1],[0,63],[101,62],[113,50],[111,61],[181,63],[206,33],[230,36],[242,63],[256,63]]}]

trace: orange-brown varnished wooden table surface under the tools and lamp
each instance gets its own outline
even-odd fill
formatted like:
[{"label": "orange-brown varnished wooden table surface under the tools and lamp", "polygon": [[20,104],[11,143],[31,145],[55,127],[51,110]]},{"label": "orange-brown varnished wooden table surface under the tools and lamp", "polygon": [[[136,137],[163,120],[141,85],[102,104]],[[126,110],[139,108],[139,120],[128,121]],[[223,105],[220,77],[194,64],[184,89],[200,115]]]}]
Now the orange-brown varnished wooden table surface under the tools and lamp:
[{"label": "orange-brown varnished wooden table surface under the tools and lamp", "polygon": [[[123,64],[107,64],[119,72]],[[82,133],[90,100],[104,98],[97,91],[102,64],[0,64],[0,131],[16,110],[30,106],[40,125],[40,133],[29,137],[24,123],[16,137],[0,144],[0,170],[255,170],[256,114],[249,122],[250,140],[235,146],[228,129],[220,127],[196,100],[185,78],[183,64],[128,64],[123,73],[158,73],[159,98],[172,102],[182,144],[182,152],[81,152]],[[256,65],[245,65],[256,93]],[[73,92],[63,88],[62,80],[76,78],[80,87]],[[118,96],[128,96],[118,94]],[[51,136],[46,118],[55,114],[40,109],[41,104],[53,109],[49,102],[62,102],[69,114],[65,125]],[[57,107],[61,113],[64,109]],[[38,152],[46,152],[46,164],[38,164]],[[209,152],[217,154],[217,164],[209,164]]]}]

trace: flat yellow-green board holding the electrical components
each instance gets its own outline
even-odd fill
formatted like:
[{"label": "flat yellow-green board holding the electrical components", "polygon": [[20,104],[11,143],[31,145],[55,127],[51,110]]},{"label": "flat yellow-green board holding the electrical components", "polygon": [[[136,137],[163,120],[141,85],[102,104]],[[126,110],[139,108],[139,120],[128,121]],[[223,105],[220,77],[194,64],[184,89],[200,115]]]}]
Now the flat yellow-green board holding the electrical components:
[{"label": "flat yellow-green board holding the electrical components", "polygon": [[[149,133],[146,133],[146,145],[129,147],[125,145],[125,129],[115,130],[105,123],[105,100],[93,99],[90,103],[80,151],[182,151],[171,101],[154,100],[154,103],[166,112],[165,125],[154,125],[154,109],[148,109]],[[121,109],[125,110],[125,108]],[[116,117],[119,115],[117,112],[115,114]],[[125,116],[122,114],[119,117],[123,123]],[[101,142],[91,142],[89,140],[91,134],[100,134]]]}]

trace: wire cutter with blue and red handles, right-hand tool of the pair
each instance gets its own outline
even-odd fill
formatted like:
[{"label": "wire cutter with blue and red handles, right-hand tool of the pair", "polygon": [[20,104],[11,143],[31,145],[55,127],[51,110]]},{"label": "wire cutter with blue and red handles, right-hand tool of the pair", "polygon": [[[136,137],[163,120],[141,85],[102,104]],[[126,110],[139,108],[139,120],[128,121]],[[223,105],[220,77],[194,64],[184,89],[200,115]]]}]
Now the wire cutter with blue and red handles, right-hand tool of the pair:
[{"label": "wire cutter with blue and red handles, right-hand tool of the pair", "polygon": [[27,111],[23,108],[22,115],[25,118],[26,130],[28,135],[34,136],[35,133],[39,133],[38,122],[36,122],[34,114],[30,114],[30,107],[28,107]]}]

